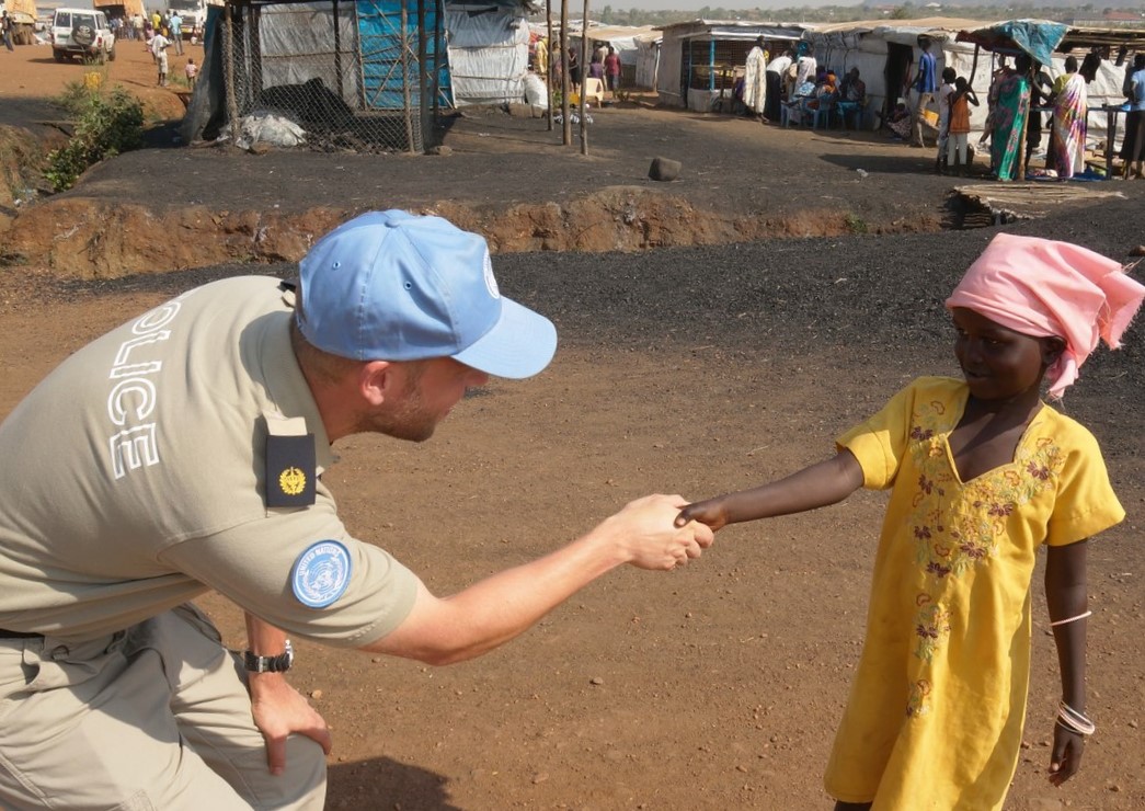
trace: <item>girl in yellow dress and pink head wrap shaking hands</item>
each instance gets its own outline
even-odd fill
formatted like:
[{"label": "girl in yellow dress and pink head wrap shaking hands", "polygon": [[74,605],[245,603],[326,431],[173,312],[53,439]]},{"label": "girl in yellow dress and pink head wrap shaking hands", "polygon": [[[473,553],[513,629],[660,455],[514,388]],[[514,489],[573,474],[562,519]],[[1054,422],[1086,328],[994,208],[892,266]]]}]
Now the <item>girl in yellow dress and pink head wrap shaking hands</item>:
[{"label": "girl in yellow dress and pink head wrap shaking hands", "polygon": [[785,479],[692,504],[677,522],[727,523],[890,489],[867,639],[827,769],[837,811],[1001,809],[1029,680],[1030,578],[1061,667],[1050,781],[1081,763],[1085,541],[1124,511],[1101,452],[1059,397],[1099,340],[1116,348],[1145,297],[1121,267],[1067,243],[1000,235],[946,305],[962,379],[919,378]]}]

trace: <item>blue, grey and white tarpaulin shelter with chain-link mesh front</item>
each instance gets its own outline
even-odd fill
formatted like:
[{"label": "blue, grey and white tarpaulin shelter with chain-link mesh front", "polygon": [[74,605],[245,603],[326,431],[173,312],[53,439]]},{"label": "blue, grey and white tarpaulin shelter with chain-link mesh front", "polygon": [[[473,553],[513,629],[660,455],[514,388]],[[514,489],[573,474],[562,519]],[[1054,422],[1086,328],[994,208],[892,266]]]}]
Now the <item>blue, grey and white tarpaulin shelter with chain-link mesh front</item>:
[{"label": "blue, grey and white tarpaulin shelter with chain-link mesh front", "polygon": [[187,141],[271,111],[313,145],[421,151],[442,108],[524,97],[528,0],[210,6]]}]

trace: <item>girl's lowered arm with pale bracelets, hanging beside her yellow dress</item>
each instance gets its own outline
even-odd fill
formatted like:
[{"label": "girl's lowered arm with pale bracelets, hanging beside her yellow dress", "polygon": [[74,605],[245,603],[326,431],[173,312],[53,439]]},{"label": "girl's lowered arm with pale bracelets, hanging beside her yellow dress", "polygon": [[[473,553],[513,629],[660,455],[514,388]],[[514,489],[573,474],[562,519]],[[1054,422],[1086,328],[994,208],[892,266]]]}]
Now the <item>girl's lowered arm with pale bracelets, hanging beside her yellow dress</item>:
[{"label": "girl's lowered arm with pale bracelets, hanging beside her yellow dress", "polygon": [[[1045,558],[1045,603],[1061,670],[1061,700],[1085,714],[1085,541],[1050,546]],[[1079,619],[1080,617],[1080,619]],[[1060,786],[1081,767],[1085,738],[1060,723],[1053,726],[1050,782]]]}]

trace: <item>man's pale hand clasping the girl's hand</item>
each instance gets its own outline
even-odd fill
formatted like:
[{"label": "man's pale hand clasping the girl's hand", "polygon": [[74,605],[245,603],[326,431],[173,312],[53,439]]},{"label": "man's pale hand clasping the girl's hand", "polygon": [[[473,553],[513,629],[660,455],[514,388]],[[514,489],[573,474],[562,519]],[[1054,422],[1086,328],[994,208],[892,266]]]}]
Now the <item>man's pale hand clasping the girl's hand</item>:
[{"label": "man's pale hand clasping the girl's hand", "polygon": [[702,523],[673,523],[685,504],[687,499],[680,496],[645,496],[626,504],[603,526],[622,540],[627,562],[641,569],[672,569],[698,558],[714,538]]}]

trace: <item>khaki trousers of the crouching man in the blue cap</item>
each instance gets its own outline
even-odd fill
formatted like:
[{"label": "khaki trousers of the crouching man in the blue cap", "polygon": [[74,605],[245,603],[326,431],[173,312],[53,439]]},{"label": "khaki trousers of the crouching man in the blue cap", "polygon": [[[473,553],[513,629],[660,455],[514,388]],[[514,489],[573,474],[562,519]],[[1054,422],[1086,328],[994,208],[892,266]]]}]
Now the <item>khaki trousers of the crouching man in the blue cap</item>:
[{"label": "khaki trousers of the crouching man in the blue cap", "polygon": [[321,809],[322,748],[271,775],[245,671],[190,605],[111,637],[0,639],[0,806]]}]

